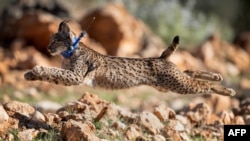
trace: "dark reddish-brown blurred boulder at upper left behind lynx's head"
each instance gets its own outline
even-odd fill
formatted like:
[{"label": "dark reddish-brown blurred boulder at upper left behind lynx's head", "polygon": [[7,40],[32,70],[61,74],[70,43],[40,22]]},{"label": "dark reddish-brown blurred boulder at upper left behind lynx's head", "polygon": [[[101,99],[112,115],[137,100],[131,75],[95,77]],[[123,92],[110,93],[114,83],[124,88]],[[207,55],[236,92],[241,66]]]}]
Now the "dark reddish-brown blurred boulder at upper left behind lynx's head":
[{"label": "dark reddish-brown blurred boulder at upper left behind lynx's head", "polygon": [[[4,38],[23,38],[30,44],[44,52],[47,52],[47,46],[50,41],[50,35],[57,32],[58,25],[62,20],[54,15],[41,11],[28,11],[7,24],[3,30]],[[77,33],[80,33],[80,27],[77,24],[70,27]]]}]

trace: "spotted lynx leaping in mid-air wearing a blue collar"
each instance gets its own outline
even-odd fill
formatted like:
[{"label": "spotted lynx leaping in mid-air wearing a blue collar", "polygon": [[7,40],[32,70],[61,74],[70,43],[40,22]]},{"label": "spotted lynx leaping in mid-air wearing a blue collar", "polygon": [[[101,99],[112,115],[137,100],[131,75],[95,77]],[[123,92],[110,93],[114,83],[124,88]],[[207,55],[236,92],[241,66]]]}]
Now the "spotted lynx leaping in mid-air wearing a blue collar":
[{"label": "spotted lynx leaping in mid-air wearing a blue collar", "polygon": [[[148,85],[159,91],[179,94],[235,95],[231,88],[216,85],[222,81],[220,74],[205,71],[180,71],[168,60],[176,50],[179,37],[157,58],[122,58],[99,54],[83,43],[72,49],[76,35],[67,22],[59,25],[58,32],[51,37],[48,51],[52,55],[64,56],[62,68],[35,66],[24,74],[29,81],[40,80],[66,86],[85,84],[105,89],[124,89]],[[63,54],[67,52],[68,54]]]}]

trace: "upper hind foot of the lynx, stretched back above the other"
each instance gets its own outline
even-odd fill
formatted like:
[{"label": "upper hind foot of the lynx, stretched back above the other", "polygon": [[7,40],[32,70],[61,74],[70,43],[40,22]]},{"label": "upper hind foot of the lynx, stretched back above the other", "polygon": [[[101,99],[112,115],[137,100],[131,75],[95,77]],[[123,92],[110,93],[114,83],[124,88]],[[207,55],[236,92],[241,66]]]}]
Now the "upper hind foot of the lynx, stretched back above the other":
[{"label": "upper hind foot of the lynx, stretched back above the other", "polygon": [[207,80],[207,81],[222,81],[223,78],[218,73],[206,72],[206,71],[193,71],[193,70],[185,70],[185,74],[192,78]]}]

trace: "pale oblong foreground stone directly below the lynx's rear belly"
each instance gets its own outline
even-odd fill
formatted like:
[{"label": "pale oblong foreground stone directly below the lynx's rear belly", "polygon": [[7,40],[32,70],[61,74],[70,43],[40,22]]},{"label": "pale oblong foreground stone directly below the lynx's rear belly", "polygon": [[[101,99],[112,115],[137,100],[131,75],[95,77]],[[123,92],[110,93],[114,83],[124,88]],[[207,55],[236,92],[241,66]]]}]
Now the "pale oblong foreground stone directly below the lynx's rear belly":
[{"label": "pale oblong foreground stone directly below the lynx's rear belly", "polygon": [[161,121],[150,112],[142,112],[139,115],[139,123],[153,135],[159,133],[164,127]]}]

